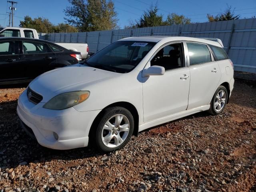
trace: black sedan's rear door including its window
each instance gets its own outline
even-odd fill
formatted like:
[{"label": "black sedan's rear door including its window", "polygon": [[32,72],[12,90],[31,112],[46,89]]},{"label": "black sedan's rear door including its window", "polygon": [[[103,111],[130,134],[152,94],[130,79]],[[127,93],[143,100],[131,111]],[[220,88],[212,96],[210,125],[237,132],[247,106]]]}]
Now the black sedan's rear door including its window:
[{"label": "black sedan's rear door including its window", "polygon": [[20,55],[20,58],[28,79],[50,70],[50,66],[56,62],[54,52],[46,43],[23,40],[22,49],[23,54]]}]

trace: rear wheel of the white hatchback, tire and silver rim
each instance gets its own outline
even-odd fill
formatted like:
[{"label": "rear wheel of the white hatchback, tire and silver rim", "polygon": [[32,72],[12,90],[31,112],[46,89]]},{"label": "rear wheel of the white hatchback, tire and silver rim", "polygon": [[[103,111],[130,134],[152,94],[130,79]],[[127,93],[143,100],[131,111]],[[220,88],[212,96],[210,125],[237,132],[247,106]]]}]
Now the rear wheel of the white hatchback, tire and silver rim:
[{"label": "rear wheel of the white hatchback, tire and silver rim", "polygon": [[[223,94],[223,95],[222,95]],[[225,100],[223,100],[225,99]],[[219,86],[214,96],[212,97],[212,101],[210,103],[210,109],[208,112],[212,115],[220,114],[228,101],[228,91],[224,86]]]}]

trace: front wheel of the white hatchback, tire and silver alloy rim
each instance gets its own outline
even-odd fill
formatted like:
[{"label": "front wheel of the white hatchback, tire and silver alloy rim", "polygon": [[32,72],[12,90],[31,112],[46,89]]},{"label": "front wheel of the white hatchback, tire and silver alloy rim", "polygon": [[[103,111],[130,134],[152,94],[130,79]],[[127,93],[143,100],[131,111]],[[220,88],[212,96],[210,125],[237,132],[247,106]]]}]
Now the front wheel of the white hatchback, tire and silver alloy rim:
[{"label": "front wheel of the white hatchback, tire and silver alloy rim", "polygon": [[98,120],[99,123],[94,127],[95,131],[92,135],[98,150],[102,152],[120,150],[130,140],[134,130],[134,119],[126,108],[107,108]]}]

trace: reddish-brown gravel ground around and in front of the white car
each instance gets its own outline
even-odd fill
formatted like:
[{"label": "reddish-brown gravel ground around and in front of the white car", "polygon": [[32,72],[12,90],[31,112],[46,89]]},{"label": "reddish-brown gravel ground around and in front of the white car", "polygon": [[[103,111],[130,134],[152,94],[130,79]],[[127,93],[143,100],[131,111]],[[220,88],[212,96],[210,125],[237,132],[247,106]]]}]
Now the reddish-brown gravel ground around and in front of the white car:
[{"label": "reddish-brown gravel ground around and in front of the white car", "polygon": [[157,126],[117,152],[58,151],[22,131],[24,88],[0,89],[0,192],[256,191],[256,86],[237,80],[218,116],[206,112]]}]

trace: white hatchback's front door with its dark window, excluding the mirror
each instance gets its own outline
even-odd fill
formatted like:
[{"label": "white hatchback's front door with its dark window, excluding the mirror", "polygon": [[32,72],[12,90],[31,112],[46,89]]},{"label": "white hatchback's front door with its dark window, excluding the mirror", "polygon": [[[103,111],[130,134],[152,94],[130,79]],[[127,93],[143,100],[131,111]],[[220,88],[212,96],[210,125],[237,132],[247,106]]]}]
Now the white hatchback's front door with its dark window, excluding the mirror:
[{"label": "white hatchback's front door with its dark window, excluding the mirror", "polygon": [[143,78],[144,122],[186,110],[190,71],[185,65],[183,47],[183,43],[163,46],[151,59],[150,65],[163,66],[165,74]]}]

